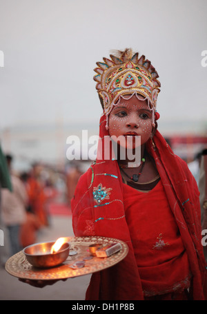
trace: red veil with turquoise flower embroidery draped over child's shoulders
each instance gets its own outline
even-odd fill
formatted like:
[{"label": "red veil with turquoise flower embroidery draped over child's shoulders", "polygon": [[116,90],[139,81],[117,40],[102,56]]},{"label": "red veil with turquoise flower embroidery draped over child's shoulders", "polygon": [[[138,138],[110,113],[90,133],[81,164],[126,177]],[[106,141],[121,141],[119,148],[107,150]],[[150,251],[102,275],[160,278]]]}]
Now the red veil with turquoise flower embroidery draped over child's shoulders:
[{"label": "red veil with turquoise flower embroidery draped over child's shoulders", "polygon": [[[108,136],[106,116],[101,116],[99,136]],[[173,154],[163,136],[156,131],[146,149],[154,158],[170,208],[188,253],[193,275],[193,300],[204,300],[206,262],[201,245],[199,191],[186,163]],[[98,156],[98,155],[97,155]],[[101,187],[106,198],[97,204],[94,189]],[[128,244],[129,253],[119,264],[92,274],[86,300],[144,300],[137,262],[126,223],[123,184],[116,160],[97,158],[79,179],[72,198],[72,226],[76,236],[100,235],[119,238]]]}]

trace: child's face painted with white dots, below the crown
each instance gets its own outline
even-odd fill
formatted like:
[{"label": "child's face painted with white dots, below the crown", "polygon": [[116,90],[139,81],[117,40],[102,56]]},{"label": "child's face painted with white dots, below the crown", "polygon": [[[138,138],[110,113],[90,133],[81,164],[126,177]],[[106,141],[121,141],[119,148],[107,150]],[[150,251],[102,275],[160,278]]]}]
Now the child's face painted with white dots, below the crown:
[{"label": "child's face painted with white dots, below the crown", "polygon": [[[118,137],[127,136],[128,132],[132,132],[130,138],[135,140],[136,135],[141,136],[141,145],[143,145],[152,134],[152,112],[148,108],[148,102],[140,101],[136,95],[128,99],[124,98],[121,98],[110,113],[109,134]],[[128,137],[128,139],[130,138]],[[122,143],[121,146],[123,145]]]}]

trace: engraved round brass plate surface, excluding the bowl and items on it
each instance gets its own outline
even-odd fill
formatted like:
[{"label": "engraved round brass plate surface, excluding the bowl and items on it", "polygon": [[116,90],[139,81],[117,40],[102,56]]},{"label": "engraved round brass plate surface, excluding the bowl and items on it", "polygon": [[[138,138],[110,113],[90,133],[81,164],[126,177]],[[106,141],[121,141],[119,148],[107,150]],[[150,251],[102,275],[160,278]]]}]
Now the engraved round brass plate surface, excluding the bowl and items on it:
[{"label": "engraved round brass plate surface, excluding the bowl and items on it", "polygon": [[[107,269],[123,260],[128,254],[128,245],[118,239],[104,238],[99,236],[91,237],[71,237],[70,255],[63,264],[52,267],[50,269],[38,269],[32,266],[26,259],[23,251],[13,255],[6,262],[6,271],[14,277],[30,280],[58,280],[73,278],[81,275],[95,273],[103,269]],[[101,243],[103,245],[112,243],[121,243],[121,250],[108,258],[97,258],[93,256],[88,259],[90,252],[88,247],[90,244]],[[72,251],[75,255],[72,255]],[[85,266],[80,269],[72,269],[70,266],[75,262],[85,260]]]}]

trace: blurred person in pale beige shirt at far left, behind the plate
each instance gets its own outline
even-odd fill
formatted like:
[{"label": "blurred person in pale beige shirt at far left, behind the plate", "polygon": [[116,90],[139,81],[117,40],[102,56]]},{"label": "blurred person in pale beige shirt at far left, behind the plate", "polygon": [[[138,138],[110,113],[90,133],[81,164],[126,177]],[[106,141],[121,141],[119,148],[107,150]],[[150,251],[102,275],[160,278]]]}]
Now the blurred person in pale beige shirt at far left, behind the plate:
[{"label": "blurred person in pale beige shirt at far left, behind the plate", "polygon": [[28,195],[26,188],[20,178],[12,174],[12,156],[6,155],[10,178],[12,181],[12,191],[2,189],[1,192],[1,210],[2,219],[6,225],[10,238],[10,253],[14,255],[21,250],[19,239],[20,227],[26,221],[26,206],[28,204]]}]

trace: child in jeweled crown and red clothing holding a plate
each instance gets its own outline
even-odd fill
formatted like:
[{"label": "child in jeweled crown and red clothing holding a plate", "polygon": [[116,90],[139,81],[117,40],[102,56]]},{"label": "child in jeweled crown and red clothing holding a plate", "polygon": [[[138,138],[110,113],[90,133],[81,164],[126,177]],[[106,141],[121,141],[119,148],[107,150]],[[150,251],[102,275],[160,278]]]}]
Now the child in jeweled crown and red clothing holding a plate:
[{"label": "child in jeweled crown and red clothing holding a plate", "polygon": [[[94,78],[103,107],[101,141],[96,162],[79,179],[72,223],[76,236],[119,238],[129,253],[92,274],[86,300],[204,300],[199,191],[157,130],[157,71],[130,49],[103,61]],[[113,142],[117,158],[105,158],[107,136],[124,136]],[[120,158],[137,148],[141,163],[136,156],[131,163],[128,154]]]}]

